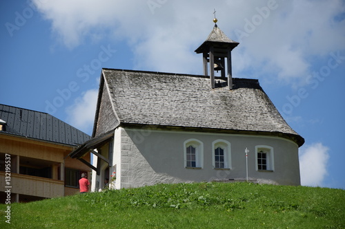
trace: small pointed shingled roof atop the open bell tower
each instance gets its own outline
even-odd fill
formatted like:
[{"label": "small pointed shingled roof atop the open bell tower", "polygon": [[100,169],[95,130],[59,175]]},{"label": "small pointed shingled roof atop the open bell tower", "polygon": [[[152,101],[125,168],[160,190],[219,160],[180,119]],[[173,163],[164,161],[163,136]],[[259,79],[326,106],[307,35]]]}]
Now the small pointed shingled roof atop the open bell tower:
[{"label": "small pointed shingled roof atop the open bell tower", "polygon": [[195,52],[201,53],[208,51],[211,44],[215,47],[228,48],[230,50],[233,50],[233,48],[239,45],[237,41],[229,39],[228,36],[226,36],[226,34],[219,29],[217,24],[215,24],[213,27],[213,30],[208,35],[206,41],[204,41],[204,43],[202,43],[202,45],[200,45]]}]

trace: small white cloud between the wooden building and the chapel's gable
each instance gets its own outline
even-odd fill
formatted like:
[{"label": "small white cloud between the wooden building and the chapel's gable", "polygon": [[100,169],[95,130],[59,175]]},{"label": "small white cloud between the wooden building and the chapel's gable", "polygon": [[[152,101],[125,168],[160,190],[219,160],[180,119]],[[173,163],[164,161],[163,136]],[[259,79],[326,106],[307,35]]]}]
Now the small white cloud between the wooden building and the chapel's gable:
[{"label": "small white cloud between the wooden building and the chapel's gable", "polygon": [[82,97],[75,100],[74,104],[66,108],[68,122],[77,129],[91,134],[97,105],[97,89],[90,89]]}]

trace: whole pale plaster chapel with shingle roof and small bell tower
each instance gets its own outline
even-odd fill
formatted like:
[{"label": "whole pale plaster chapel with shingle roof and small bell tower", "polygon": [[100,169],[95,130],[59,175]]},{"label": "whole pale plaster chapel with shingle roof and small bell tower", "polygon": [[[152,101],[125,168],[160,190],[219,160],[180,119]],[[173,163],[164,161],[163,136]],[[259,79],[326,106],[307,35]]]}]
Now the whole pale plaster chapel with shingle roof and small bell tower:
[{"label": "whole pale plaster chapel with shingle roof and small bell tower", "polygon": [[[92,190],[157,183],[300,185],[304,138],[259,81],[233,77],[239,43],[215,25],[195,52],[203,75],[102,69],[92,139],[70,153]],[[83,160],[93,154],[92,163]]]}]

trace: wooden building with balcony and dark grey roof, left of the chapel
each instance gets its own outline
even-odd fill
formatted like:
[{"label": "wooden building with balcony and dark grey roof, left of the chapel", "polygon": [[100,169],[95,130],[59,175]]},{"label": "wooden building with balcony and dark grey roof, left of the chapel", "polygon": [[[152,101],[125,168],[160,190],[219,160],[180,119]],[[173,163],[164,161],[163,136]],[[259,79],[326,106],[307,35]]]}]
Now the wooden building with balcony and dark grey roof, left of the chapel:
[{"label": "wooden building with balcony and dark grey roof, left of the chapel", "polygon": [[81,173],[90,168],[68,153],[89,139],[48,113],[0,105],[1,203],[8,195],[26,202],[78,193]]}]

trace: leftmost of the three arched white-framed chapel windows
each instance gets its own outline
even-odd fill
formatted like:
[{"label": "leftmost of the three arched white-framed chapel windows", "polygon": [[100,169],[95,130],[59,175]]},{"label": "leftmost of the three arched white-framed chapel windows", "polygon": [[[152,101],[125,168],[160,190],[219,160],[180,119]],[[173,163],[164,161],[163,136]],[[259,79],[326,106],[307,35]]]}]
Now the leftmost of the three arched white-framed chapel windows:
[{"label": "leftmost of the three arched white-framed chapel windows", "polygon": [[202,168],[204,166],[204,144],[197,139],[184,142],[184,166]]}]

